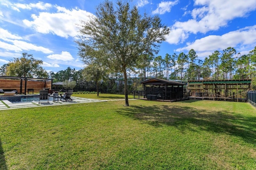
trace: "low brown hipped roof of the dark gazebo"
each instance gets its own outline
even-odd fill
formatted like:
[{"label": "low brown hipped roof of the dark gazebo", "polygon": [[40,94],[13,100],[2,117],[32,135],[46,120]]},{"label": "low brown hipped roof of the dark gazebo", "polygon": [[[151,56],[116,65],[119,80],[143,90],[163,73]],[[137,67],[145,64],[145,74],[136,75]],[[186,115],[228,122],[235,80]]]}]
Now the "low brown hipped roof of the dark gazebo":
[{"label": "low brown hipped roof of the dark gazebo", "polygon": [[150,78],[148,80],[145,80],[143,82],[141,82],[141,84],[144,85],[160,85],[160,86],[183,86],[186,85],[184,83],[181,82],[175,82],[175,81],[170,81],[170,80],[164,80],[164,79],[160,79],[160,78]]}]

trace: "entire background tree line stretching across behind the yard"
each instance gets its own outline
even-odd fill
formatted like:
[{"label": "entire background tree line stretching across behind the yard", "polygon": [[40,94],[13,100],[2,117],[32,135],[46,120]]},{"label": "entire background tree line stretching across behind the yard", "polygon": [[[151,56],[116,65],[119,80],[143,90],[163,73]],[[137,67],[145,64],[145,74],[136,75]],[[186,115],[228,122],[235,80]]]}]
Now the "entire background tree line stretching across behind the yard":
[{"label": "entire background tree line stretching across behind the yard", "polygon": [[[214,51],[204,61],[198,59],[196,51],[191,49],[188,54],[166,54],[165,57],[144,57],[138,68],[127,70],[128,90],[140,90],[140,82],[156,77],[168,80],[224,80],[224,79],[253,79],[256,86],[256,47],[246,55],[236,53],[232,47],[224,49],[222,53]],[[147,63],[147,64],[145,64]],[[122,73],[111,71],[99,64],[89,64],[86,68],[75,70],[68,67],[56,73],[46,72],[42,61],[33,55],[22,53],[21,58],[14,58],[12,62],[0,68],[2,76],[20,76],[35,78],[52,78],[53,82],[76,82],[77,90],[92,90],[99,88],[122,91],[124,76]],[[133,71],[135,70],[135,71]],[[255,87],[254,87],[255,88]]]}]

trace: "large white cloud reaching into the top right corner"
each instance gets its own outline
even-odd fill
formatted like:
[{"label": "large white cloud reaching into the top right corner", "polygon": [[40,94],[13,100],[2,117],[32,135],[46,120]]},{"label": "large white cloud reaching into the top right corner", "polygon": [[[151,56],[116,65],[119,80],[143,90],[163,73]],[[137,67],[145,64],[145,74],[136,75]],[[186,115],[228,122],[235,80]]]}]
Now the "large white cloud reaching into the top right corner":
[{"label": "large white cloud reaching into the top right corner", "polygon": [[168,41],[169,43],[183,42],[184,37],[187,38],[190,33],[206,33],[211,30],[218,30],[234,18],[245,17],[250,11],[256,9],[255,0],[247,0],[246,3],[239,0],[235,3],[232,0],[196,0],[194,5],[199,6],[199,8],[192,10],[192,19],[184,22],[176,21],[172,26],[172,31],[176,33],[174,35],[176,37],[172,37]]}]

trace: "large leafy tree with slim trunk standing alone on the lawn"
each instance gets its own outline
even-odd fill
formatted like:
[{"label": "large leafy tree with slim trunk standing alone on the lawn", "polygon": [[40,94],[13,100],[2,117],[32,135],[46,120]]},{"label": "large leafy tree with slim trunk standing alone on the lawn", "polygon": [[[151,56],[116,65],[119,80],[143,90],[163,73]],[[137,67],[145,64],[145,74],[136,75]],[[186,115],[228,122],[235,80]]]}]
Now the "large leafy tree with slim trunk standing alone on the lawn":
[{"label": "large leafy tree with slim trunk standing alone on the lawn", "polygon": [[78,55],[97,60],[108,69],[124,74],[125,105],[128,103],[127,70],[136,68],[139,58],[158,53],[158,47],[170,32],[158,16],[140,15],[136,6],[119,0],[106,0],[96,7],[96,16],[81,21]]}]

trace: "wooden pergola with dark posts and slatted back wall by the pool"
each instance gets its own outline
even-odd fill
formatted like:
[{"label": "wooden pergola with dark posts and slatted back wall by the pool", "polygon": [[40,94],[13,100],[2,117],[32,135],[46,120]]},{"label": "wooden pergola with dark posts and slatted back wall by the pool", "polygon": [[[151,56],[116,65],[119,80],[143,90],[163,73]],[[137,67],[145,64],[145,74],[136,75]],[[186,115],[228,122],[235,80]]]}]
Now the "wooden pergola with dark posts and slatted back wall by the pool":
[{"label": "wooden pergola with dark posts and slatted back wall by the pool", "polygon": [[3,90],[15,89],[18,94],[26,95],[28,89],[33,89],[33,92],[39,92],[43,88],[52,89],[52,79],[0,76],[0,88]]}]

